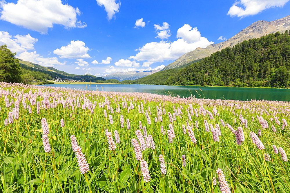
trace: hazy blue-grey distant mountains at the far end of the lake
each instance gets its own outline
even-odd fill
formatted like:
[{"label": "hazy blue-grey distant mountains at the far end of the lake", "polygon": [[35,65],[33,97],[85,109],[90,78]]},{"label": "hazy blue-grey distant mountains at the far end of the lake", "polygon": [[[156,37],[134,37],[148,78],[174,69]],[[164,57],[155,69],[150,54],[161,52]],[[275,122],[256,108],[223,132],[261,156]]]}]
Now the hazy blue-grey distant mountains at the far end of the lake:
[{"label": "hazy blue-grey distant mountains at the far end of the lake", "polygon": [[138,78],[142,78],[151,74],[154,74],[156,72],[159,72],[161,68],[157,70],[144,70],[142,72],[140,71],[130,71],[130,72],[117,72],[117,73],[111,73],[106,76],[102,76],[104,79],[116,79],[118,81],[123,80],[136,80]]}]

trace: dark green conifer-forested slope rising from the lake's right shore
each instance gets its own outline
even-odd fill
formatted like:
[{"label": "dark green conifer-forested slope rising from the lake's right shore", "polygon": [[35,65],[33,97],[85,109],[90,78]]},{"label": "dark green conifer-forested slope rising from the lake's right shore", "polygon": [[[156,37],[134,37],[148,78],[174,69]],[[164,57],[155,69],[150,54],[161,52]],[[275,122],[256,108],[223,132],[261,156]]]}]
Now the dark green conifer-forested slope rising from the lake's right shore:
[{"label": "dark green conifer-forested slope rising from the lake's right shore", "polygon": [[167,85],[289,87],[290,36],[268,34],[211,54],[170,76]]}]

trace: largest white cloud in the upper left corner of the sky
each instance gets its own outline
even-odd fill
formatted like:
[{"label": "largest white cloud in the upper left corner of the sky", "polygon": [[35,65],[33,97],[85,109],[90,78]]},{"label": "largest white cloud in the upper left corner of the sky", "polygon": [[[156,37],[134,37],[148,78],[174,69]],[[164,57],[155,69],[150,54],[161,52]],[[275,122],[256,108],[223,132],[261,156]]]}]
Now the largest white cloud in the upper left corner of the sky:
[{"label": "largest white cloud in the upper left corner of the sky", "polygon": [[1,1],[1,20],[46,34],[53,24],[66,28],[86,27],[77,20],[81,12],[61,0],[18,0],[16,4]]}]

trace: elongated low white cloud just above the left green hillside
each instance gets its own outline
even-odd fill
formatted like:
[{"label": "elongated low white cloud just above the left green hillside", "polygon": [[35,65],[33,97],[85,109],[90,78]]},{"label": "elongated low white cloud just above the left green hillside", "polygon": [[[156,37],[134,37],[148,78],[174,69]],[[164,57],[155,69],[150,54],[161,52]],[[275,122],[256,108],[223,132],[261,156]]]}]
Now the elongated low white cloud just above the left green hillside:
[{"label": "elongated low white cloud just above the left green hillside", "polygon": [[58,61],[57,57],[43,57],[40,56],[39,54],[36,53],[36,51],[34,52],[23,52],[21,54],[19,54],[19,56],[17,57],[19,59],[22,59],[24,61],[29,61],[35,64],[39,64],[41,66],[54,66],[54,64],[56,65],[64,65],[66,64],[61,63]]}]

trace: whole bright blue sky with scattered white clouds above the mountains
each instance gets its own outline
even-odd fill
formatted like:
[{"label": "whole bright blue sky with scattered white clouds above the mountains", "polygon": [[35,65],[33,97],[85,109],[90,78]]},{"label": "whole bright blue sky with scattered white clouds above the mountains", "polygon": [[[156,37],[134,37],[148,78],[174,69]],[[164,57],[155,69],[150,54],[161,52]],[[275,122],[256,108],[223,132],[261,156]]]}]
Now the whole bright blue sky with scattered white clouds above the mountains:
[{"label": "whole bright blue sky with scattered white clouds above the mountains", "polygon": [[290,15],[288,1],[0,0],[0,45],[79,75],[151,70]]}]

